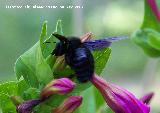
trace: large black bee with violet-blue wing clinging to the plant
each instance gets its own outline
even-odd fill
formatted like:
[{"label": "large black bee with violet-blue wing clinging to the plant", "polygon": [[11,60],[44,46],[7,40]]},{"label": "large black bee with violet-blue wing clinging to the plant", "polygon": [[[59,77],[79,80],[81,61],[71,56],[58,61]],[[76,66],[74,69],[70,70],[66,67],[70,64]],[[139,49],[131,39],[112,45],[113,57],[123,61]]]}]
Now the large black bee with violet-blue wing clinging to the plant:
[{"label": "large black bee with violet-blue wing clinging to the plant", "polygon": [[89,81],[94,73],[94,58],[91,51],[109,47],[113,41],[124,38],[111,37],[82,43],[78,37],[66,38],[56,33],[53,36],[60,42],[56,44],[52,55],[64,55],[66,63],[75,71],[76,77],[81,83]]}]

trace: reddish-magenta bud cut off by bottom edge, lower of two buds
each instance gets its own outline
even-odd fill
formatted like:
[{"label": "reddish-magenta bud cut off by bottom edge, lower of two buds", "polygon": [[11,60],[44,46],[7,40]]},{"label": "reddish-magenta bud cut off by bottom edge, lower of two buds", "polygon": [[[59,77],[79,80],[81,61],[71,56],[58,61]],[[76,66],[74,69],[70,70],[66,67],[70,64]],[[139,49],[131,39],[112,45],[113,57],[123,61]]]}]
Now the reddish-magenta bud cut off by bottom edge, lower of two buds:
[{"label": "reddish-magenta bud cut off by bottom edge, lower of two buds", "polygon": [[73,113],[82,103],[81,96],[71,96],[57,108],[53,109],[52,113]]}]

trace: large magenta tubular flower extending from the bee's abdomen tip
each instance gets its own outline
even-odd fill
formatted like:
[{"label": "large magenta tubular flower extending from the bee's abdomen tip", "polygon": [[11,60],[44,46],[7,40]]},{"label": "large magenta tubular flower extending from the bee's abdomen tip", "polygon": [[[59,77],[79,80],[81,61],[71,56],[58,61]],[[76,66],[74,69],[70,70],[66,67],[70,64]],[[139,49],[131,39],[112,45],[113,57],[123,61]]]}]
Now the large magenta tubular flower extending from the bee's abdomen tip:
[{"label": "large magenta tubular flower extending from the bee's abdomen tip", "polygon": [[101,92],[108,106],[115,113],[149,113],[150,107],[127,90],[106,82],[94,75],[91,82]]}]

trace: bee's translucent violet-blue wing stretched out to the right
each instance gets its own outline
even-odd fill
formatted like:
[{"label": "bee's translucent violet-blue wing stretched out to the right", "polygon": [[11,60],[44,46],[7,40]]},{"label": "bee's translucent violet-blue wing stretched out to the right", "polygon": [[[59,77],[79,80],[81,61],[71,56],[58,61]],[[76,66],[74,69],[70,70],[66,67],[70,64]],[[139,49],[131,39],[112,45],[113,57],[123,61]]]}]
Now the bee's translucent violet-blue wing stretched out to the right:
[{"label": "bee's translucent violet-blue wing stretched out to the right", "polygon": [[99,49],[109,47],[112,42],[123,40],[126,38],[127,36],[108,37],[108,38],[103,38],[99,40],[86,41],[83,44],[87,48],[89,48],[91,51],[94,51],[94,50],[99,50]]}]

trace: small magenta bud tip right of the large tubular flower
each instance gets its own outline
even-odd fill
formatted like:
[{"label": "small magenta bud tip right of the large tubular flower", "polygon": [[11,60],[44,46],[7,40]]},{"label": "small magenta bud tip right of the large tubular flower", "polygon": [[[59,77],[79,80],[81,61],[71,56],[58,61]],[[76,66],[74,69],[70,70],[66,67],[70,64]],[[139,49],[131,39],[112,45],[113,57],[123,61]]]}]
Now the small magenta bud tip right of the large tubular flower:
[{"label": "small magenta bud tip right of the large tubular flower", "polygon": [[154,93],[151,92],[141,97],[140,100],[145,104],[149,104],[153,96],[154,96]]}]

